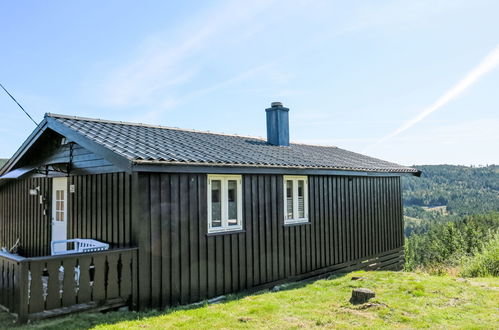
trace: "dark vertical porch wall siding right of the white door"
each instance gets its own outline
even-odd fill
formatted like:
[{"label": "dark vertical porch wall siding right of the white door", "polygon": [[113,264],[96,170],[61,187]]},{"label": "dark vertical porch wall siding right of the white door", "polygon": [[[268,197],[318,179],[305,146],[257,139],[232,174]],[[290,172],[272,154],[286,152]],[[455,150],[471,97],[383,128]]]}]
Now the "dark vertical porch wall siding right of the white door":
[{"label": "dark vertical porch wall siding right of the white door", "polygon": [[69,177],[68,238],[92,238],[113,248],[131,245],[131,175]]}]

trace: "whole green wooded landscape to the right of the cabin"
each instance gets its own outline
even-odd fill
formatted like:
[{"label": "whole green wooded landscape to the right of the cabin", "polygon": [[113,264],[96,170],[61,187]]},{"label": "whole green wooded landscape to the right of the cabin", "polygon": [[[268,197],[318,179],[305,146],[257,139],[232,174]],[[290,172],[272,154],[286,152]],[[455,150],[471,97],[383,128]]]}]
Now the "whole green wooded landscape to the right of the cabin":
[{"label": "whole green wooded landscape to the right of the cabin", "polygon": [[415,166],[404,177],[406,270],[499,276],[499,166]]}]

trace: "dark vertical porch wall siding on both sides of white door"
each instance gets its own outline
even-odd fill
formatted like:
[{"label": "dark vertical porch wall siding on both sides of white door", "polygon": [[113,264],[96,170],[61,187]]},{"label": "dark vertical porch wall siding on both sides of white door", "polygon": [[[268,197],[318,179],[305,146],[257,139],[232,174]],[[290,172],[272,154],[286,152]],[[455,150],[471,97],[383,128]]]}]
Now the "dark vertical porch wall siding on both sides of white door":
[{"label": "dark vertical porch wall siding on both sides of white door", "polygon": [[[93,238],[112,247],[131,246],[131,176],[108,173],[71,176],[68,188],[68,238]],[[38,196],[47,198],[47,215]],[[24,256],[50,255],[52,178],[13,180],[0,186],[0,247],[21,239]]]}]

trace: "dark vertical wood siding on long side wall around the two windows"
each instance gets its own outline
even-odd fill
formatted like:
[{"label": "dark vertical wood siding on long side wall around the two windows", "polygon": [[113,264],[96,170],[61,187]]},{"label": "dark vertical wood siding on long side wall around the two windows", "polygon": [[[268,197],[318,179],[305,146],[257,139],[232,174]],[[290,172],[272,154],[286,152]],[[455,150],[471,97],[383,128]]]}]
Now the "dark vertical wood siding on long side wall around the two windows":
[{"label": "dark vertical wood siding on long side wall around the two windows", "polygon": [[284,226],[280,175],[243,176],[244,232],[207,235],[205,174],[140,173],[139,304],[171,306],[402,247],[399,177],[309,176],[310,224]]}]

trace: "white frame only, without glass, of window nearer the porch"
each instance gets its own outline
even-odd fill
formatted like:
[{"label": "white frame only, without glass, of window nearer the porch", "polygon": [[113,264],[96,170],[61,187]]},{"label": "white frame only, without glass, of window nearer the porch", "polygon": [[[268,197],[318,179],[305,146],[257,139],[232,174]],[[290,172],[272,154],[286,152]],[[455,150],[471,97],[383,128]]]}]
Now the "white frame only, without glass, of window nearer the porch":
[{"label": "white frame only, without glass, of window nearer the porch", "polygon": [[[211,205],[211,182],[220,180],[221,182],[221,210],[222,210],[222,227],[212,227],[212,205]],[[229,196],[228,184],[229,180],[237,182],[237,223],[238,225],[229,226]],[[241,175],[221,175],[208,174],[208,233],[231,232],[243,229],[243,197],[242,197],[242,176]]]}]

